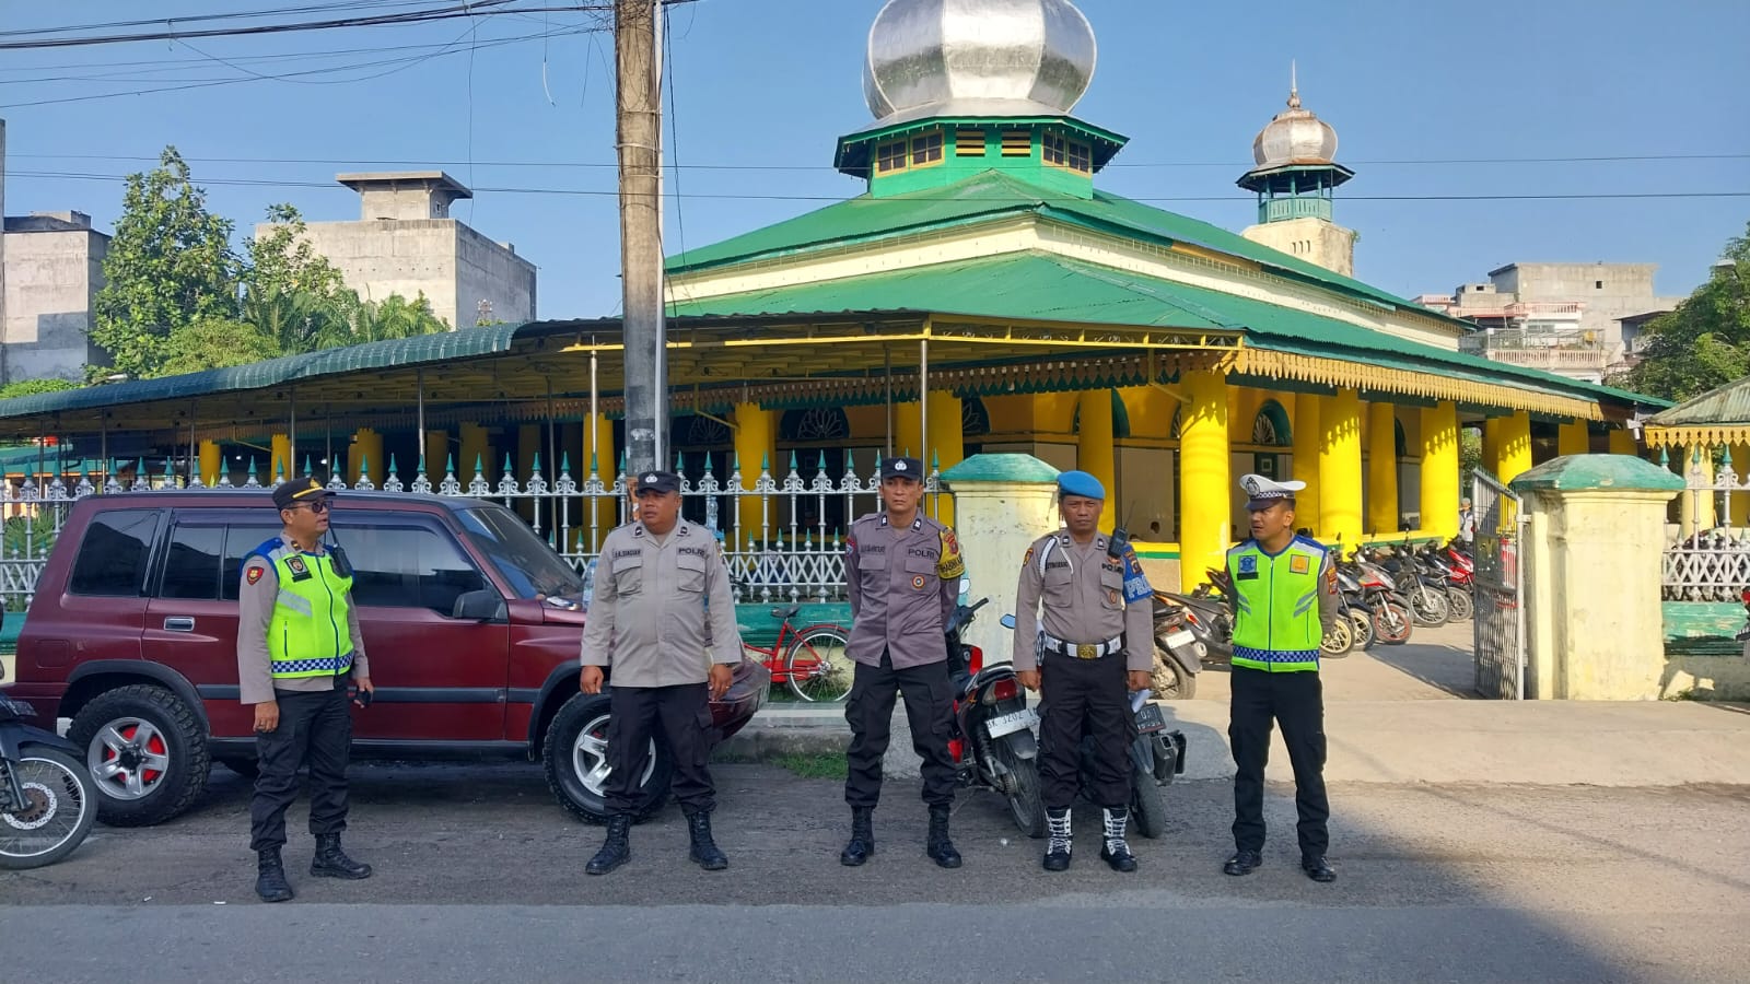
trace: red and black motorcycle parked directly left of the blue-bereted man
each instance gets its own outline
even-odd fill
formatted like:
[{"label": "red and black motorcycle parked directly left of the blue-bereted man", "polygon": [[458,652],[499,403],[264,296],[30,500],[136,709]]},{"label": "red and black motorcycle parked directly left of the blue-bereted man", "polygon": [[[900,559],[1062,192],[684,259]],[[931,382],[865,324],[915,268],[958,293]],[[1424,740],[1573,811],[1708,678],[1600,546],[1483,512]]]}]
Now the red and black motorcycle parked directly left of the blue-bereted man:
[{"label": "red and black motorcycle parked directly left of the blue-bereted man", "polygon": [[[954,734],[948,753],[959,769],[961,786],[980,786],[1008,800],[1008,814],[1027,837],[1045,837],[1045,804],[1040,802],[1040,742],[1032,728],[1040,713],[1027,707],[1027,695],[1015,665],[984,665],[984,650],[961,641],[973,613],[990,599],[957,606],[945,629],[948,676],[954,686]],[[1003,616],[1013,627],[1013,616]]]}]

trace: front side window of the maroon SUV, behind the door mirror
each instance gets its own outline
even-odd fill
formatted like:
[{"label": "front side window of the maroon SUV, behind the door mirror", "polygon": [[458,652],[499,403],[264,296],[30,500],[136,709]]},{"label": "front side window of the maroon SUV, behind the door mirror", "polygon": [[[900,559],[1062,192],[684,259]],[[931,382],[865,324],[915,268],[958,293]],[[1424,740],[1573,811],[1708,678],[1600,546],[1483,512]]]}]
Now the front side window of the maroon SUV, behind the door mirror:
[{"label": "front side window of the maroon SUV, behind the door mirror", "polygon": [[430,527],[373,525],[348,517],[336,538],[354,569],[357,604],[429,608],[448,616],[458,595],[488,587],[455,541]]}]

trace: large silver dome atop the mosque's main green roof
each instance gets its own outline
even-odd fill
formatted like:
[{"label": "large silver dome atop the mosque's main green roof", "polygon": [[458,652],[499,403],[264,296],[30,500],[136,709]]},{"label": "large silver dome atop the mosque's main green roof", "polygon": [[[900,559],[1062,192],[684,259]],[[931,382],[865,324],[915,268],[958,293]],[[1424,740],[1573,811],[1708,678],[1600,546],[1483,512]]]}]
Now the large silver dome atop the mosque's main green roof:
[{"label": "large silver dome atop the mosque's main green roof", "polygon": [[1062,116],[1094,79],[1094,28],[1069,0],[887,0],[863,95],[882,123]]}]

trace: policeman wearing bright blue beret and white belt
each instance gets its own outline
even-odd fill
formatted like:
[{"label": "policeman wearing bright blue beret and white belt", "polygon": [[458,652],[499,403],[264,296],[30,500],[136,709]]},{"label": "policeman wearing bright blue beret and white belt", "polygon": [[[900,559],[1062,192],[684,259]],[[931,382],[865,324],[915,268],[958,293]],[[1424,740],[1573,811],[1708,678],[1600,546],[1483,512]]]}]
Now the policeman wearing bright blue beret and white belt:
[{"label": "policeman wearing bright blue beret and white belt", "polygon": [[[1124,839],[1134,727],[1125,692],[1144,690],[1155,665],[1153,588],[1130,545],[1101,536],[1104,501],[1099,478],[1085,471],[1059,474],[1064,529],[1027,548],[1015,588],[1015,676],[1027,690],[1045,688],[1040,777],[1048,872],[1069,867],[1069,804],[1082,786],[1083,734],[1094,739],[1087,793],[1104,818],[1099,856],[1116,872],[1136,870]],[[1036,630],[1041,608],[1043,625]]]}]

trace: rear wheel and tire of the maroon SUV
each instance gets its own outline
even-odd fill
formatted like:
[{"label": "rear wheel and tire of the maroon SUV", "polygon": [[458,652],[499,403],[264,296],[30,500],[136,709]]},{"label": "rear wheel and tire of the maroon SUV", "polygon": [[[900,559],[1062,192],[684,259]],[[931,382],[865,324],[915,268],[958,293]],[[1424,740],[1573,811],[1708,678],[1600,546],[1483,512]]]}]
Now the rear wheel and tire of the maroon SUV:
[{"label": "rear wheel and tire of the maroon SUV", "polygon": [[[66,739],[84,753],[98,788],[98,819],[110,826],[150,826],[189,809],[212,758],[194,711],[163,686],[119,686],[79,709]],[[138,748],[116,748],[138,742]],[[140,760],[140,756],[150,756]],[[163,769],[149,769],[150,760]],[[131,783],[130,777],[136,779]]]}]

